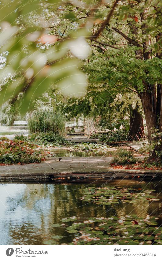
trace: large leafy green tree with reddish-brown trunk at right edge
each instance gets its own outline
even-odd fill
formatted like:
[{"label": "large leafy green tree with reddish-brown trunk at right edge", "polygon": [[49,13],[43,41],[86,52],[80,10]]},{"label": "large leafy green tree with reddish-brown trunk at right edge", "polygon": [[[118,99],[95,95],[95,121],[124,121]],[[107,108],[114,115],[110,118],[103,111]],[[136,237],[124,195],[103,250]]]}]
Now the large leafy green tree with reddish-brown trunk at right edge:
[{"label": "large leafy green tree with reddish-brown trunk at right edge", "polygon": [[[95,43],[98,43],[99,46],[107,46],[103,32],[103,26],[105,26],[105,29],[110,28],[110,31],[115,31],[119,34],[124,40],[123,44],[128,44],[128,47],[121,48],[120,50],[116,46],[116,43],[111,46],[109,44],[109,47],[119,51],[114,53],[114,55],[117,55],[116,57],[111,55],[110,52],[107,54],[105,50],[103,51],[106,53],[106,62],[104,60],[105,67],[103,68],[102,66],[102,70],[105,70],[104,75],[106,74],[105,76],[109,81],[110,87],[113,86],[110,83],[113,80],[115,84],[122,82],[123,89],[123,86],[125,87],[126,85],[124,84],[124,80],[126,80],[128,83],[126,88],[138,94],[146,118],[149,140],[155,139],[151,135],[151,129],[157,128],[159,131],[162,131],[159,4],[159,1],[128,2],[126,5],[119,7],[119,10],[123,10],[124,12],[123,14],[119,12],[118,19],[115,22],[113,21],[114,25],[110,24],[110,21],[102,22],[102,27],[100,26],[90,38]],[[97,40],[97,37],[103,39],[104,42],[103,40]],[[154,44],[155,39],[156,44]],[[132,55],[132,52],[135,52],[135,55]],[[113,70],[114,68],[116,71]],[[126,74],[128,71],[131,73],[130,75]],[[118,75],[116,72],[118,72]],[[161,144],[156,145],[156,150],[161,150],[161,148]],[[152,156],[156,155],[154,151]]]}]

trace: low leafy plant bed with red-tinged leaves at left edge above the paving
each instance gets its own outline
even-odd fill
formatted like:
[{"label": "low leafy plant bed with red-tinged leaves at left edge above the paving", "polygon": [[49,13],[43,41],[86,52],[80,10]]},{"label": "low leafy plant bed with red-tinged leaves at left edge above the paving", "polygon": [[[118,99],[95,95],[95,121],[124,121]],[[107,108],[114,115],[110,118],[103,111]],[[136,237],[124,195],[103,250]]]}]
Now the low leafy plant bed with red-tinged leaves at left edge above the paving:
[{"label": "low leafy plant bed with red-tinged leaves at left edge above the paving", "polygon": [[27,141],[0,141],[0,164],[28,164],[45,160],[49,153]]}]

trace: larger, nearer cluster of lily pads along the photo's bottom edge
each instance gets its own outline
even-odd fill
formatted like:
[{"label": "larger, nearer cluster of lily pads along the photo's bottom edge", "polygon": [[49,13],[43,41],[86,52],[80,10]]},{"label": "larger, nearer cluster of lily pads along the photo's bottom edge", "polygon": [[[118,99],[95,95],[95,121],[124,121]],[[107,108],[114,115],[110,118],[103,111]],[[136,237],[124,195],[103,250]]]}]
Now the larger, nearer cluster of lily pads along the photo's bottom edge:
[{"label": "larger, nearer cluster of lily pads along the photo's bottom edge", "polygon": [[[136,215],[126,217],[98,217],[85,220],[83,223],[76,222],[67,227],[68,233],[73,233],[75,239],[72,244],[97,244],[102,245],[136,245],[136,244],[161,244],[160,235],[162,228],[154,227],[157,225],[155,217],[147,215],[150,221],[144,222],[142,218]],[[127,221],[129,219],[129,221]],[[114,221],[115,220],[115,221]]]}]

